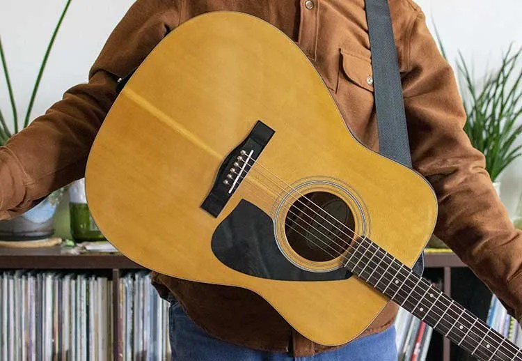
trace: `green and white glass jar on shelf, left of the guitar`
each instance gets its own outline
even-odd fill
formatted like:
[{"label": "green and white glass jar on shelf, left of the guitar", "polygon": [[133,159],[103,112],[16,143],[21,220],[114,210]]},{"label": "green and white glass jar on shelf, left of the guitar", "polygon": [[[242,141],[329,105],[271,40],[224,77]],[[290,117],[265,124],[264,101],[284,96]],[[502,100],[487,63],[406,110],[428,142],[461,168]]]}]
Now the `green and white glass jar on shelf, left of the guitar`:
[{"label": "green and white glass jar on shelf, left of the guitar", "polygon": [[71,183],[69,187],[69,212],[71,218],[71,236],[77,242],[105,240],[103,233],[93,220],[87,206],[85,178]]}]

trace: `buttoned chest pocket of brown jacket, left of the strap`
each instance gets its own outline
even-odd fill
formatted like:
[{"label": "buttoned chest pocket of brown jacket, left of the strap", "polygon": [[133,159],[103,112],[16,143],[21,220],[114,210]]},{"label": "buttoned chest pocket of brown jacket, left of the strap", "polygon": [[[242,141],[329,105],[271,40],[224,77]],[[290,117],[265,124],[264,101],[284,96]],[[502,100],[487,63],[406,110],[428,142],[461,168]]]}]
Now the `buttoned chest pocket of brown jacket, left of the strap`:
[{"label": "buttoned chest pocket of brown jacket, left of the strap", "polygon": [[345,50],[340,51],[335,98],[350,130],[364,144],[373,146],[377,128],[374,121],[374,85],[370,59]]}]

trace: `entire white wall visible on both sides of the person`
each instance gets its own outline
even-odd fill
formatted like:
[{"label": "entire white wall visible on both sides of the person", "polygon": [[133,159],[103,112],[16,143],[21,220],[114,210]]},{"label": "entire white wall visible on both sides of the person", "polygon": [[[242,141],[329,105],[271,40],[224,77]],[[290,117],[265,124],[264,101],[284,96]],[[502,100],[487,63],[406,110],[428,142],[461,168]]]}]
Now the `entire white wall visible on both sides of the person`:
[{"label": "entire white wall visible on both sides of the person", "polygon": [[[49,57],[33,117],[45,112],[70,86],[86,81],[88,69],[104,40],[132,2],[72,1]],[[490,68],[496,66],[500,53],[510,42],[519,40],[516,45],[522,45],[520,0],[503,0],[502,6],[494,0],[418,0],[418,3],[431,27],[434,18],[449,58],[455,59],[460,49],[468,61],[473,59],[477,74],[488,64]],[[38,65],[64,4],[65,0],[2,0],[0,3],[0,35],[20,116],[25,113]],[[4,116],[10,116],[3,77],[0,77],[0,107]],[[522,191],[522,159],[512,164],[500,179],[503,201],[513,213],[516,197]]]}]

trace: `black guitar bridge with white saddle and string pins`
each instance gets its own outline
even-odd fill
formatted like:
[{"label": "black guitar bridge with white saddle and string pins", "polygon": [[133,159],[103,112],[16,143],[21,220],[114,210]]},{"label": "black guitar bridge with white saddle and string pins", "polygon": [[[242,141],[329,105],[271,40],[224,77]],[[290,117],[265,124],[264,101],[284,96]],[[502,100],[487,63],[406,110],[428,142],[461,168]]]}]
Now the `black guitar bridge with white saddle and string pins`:
[{"label": "black guitar bridge with white saddle and string pins", "polygon": [[258,121],[246,139],[230,152],[221,163],[216,181],[201,208],[217,217],[226,203],[242,183],[255,160],[267,146],[274,130]]}]

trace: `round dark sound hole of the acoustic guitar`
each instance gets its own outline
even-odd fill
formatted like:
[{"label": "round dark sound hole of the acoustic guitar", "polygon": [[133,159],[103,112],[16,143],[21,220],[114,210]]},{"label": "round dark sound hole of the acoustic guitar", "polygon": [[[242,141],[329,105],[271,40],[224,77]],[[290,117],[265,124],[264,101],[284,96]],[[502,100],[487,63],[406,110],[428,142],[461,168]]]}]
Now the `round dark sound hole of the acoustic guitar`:
[{"label": "round dark sound hole of the acoustic guitar", "polygon": [[287,213],[288,243],[310,261],[330,261],[349,247],[354,236],[354,215],[349,206],[327,192],[311,192],[297,199]]}]

